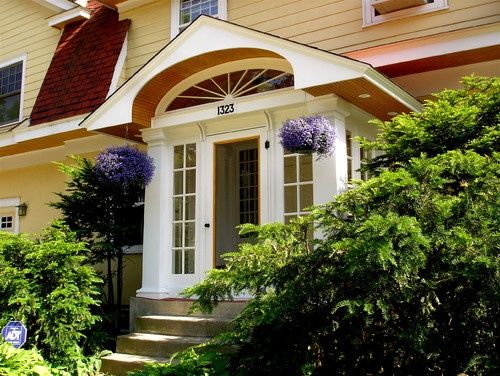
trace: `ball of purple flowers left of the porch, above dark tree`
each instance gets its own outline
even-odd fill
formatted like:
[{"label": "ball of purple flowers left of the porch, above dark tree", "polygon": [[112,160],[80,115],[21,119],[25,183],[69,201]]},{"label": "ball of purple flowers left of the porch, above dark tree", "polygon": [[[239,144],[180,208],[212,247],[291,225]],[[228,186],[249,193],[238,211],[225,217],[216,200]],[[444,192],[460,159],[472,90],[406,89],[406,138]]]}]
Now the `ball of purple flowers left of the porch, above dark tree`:
[{"label": "ball of purple flowers left of the porch, above dark tree", "polygon": [[153,178],[153,159],[132,146],[111,146],[96,157],[95,171],[101,181],[147,185]]}]

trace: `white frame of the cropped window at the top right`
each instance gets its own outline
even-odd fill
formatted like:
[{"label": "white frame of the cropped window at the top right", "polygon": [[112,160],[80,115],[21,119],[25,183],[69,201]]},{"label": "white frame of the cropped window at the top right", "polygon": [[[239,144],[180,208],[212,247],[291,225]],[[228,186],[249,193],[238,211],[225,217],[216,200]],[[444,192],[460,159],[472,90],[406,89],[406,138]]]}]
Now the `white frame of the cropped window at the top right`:
[{"label": "white frame of the cropped window at the top right", "polygon": [[419,14],[435,12],[448,8],[448,0],[434,0],[433,3],[401,9],[386,14],[375,14],[372,4],[374,0],[361,0],[363,5],[363,27],[377,25],[383,22],[412,17]]}]

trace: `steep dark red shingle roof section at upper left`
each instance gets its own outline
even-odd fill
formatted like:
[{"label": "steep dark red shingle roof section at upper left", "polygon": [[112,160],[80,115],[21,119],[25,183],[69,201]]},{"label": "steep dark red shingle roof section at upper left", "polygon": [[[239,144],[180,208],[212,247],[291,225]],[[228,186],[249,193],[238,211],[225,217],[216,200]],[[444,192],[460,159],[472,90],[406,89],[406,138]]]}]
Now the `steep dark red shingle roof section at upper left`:
[{"label": "steep dark red shingle roof section at upper left", "polygon": [[31,125],[88,113],[106,99],[130,20],[91,0],[91,17],[67,25],[31,112]]}]

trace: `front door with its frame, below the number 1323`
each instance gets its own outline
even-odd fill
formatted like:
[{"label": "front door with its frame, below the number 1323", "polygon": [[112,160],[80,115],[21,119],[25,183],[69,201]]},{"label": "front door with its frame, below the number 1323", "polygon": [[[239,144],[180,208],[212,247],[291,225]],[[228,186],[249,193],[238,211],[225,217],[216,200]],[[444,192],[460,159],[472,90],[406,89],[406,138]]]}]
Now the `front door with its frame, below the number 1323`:
[{"label": "front door with its frame, below the number 1323", "polygon": [[221,268],[224,253],[238,250],[244,238],[238,234],[243,223],[266,221],[261,212],[267,202],[268,177],[265,173],[268,150],[265,130],[243,131],[208,137],[206,175],[207,268]]}]

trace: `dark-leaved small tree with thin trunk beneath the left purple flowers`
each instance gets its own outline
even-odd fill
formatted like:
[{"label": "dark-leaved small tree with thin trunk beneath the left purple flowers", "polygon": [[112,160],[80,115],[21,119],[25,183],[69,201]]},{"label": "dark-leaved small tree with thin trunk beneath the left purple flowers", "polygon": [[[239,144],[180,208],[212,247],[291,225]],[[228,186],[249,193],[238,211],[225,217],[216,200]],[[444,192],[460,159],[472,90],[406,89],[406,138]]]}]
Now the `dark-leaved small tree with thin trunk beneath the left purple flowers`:
[{"label": "dark-leaved small tree with thin trunk beneath the left purple flowers", "polygon": [[116,305],[121,306],[124,251],[127,246],[142,244],[143,207],[135,203],[143,195],[144,187],[131,183],[125,188],[102,181],[94,161],[79,157],[73,157],[73,161],[71,165],[57,164],[69,180],[66,191],[58,193],[60,201],[51,205],[61,210],[65,223],[77,238],[89,244],[89,259],[93,263],[107,263],[105,298],[109,304],[115,304],[116,276]]}]

